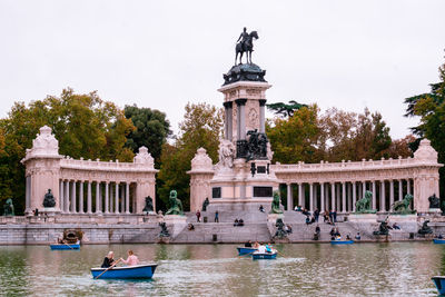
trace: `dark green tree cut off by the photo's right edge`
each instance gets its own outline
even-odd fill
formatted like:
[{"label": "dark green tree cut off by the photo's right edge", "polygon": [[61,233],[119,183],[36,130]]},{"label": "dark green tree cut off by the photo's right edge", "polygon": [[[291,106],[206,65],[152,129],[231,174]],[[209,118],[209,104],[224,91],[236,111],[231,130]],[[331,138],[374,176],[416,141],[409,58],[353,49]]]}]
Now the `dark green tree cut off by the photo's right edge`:
[{"label": "dark green tree cut off by the photo's right edge", "polygon": [[[445,63],[438,68],[439,82],[432,83],[428,93],[422,93],[405,99],[406,117],[419,117],[419,125],[413,127],[418,137],[413,147],[418,146],[421,138],[431,140],[438,152],[438,162],[445,162]],[[445,169],[439,169],[441,197],[445,197]]]}]

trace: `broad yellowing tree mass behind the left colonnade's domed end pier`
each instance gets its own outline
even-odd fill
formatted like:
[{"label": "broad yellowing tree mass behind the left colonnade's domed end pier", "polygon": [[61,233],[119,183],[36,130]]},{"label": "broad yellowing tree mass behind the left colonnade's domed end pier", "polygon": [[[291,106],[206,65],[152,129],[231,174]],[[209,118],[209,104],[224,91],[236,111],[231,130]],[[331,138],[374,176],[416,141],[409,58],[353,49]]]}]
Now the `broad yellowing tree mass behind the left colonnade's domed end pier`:
[{"label": "broad yellowing tree mass behind the left colonnade's domed end pier", "polygon": [[96,92],[76,95],[68,88],[60,97],[48,96],[28,107],[16,102],[8,117],[0,120],[0,191],[3,199],[13,198],[18,214],[24,210],[24,168],[20,160],[44,125],[52,128],[60,155],[132,160],[132,151],[125,147],[126,136],[135,129],[131,120]]}]

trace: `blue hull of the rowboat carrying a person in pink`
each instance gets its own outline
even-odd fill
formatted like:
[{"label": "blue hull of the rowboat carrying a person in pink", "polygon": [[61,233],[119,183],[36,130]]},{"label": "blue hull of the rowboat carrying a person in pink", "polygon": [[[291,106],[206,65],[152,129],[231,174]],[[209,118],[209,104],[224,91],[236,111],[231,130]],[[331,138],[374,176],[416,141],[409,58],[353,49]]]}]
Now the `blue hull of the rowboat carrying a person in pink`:
[{"label": "blue hull of the rowboat carrying a person in pink", "polygon": [[[102,278],[147,279],[152,277],[157,266],[158,266],[157,264],[149,264],[149,265],[112,267],[107,273],[101,275],[99,279]],[[98,277],[105,270],[107,270],[107,268],[91,268],[92,278]]]}]

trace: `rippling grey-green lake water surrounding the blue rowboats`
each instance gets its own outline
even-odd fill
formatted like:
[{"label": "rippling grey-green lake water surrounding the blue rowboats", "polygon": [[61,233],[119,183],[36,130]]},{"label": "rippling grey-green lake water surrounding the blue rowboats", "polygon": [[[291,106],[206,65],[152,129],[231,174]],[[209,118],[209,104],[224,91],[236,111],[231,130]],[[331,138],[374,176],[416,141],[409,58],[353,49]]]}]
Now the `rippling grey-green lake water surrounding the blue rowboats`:
[{"label": "rippling grey-green lake water surrounding the blue rowboats", "polygon": [[[93,280],[90,268],[108,250],[132,249],[159,264],[152,280]],[[278,245],[276,260],[237,257],[234,245],[0,247],[3,295],[38,296],[437,296],[433,275],[445,275],[445,245],[432,242]]]}]

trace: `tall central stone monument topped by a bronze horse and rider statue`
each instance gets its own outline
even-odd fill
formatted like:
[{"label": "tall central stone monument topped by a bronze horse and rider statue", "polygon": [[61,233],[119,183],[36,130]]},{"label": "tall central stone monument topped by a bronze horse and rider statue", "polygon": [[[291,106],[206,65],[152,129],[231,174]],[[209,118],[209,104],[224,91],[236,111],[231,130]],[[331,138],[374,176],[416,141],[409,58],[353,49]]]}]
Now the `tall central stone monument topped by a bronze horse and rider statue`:
[{"label": "tall central stone monument topped by a bronze horse and rider statue", "polygon": [[[247,52],[247,63],[231,67],[218,89],[224,95],[225,107],[218,164],[211,166],[210,158],[198,150],[188,172],[191,200],[209,197],[210,212],[258,210],[260,205],[271,202],[273,192],[278,189],[278,179],[270,170],[273,152],[265,133],[266,90],[271,86],[265,80],[266,71],[251,62],[251,41],[256,38],[255,31],[244,30],[236,52]],[[206,184],[201,176],[209,172],[212,176]]]}]

